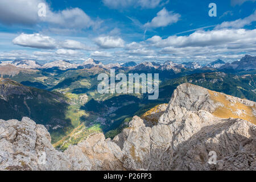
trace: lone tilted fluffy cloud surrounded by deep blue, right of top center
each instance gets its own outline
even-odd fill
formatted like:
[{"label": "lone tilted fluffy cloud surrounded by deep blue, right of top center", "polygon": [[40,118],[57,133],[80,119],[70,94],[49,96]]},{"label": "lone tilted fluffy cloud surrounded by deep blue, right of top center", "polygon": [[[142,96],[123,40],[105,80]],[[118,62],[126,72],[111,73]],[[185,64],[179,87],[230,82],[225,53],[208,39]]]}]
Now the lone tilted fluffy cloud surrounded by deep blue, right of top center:
[{"label": "lone tilted fluffy cloud surrounded by deep blue, right of top center", "polygon": [[153,18],[151,22],[144,24],[144,26],[152,28],[166,27],[170,24],[176,23],[179,18],[180,14],[174,13],[173,11],[167,11],[164,7],[156,14],[155,18]]}]

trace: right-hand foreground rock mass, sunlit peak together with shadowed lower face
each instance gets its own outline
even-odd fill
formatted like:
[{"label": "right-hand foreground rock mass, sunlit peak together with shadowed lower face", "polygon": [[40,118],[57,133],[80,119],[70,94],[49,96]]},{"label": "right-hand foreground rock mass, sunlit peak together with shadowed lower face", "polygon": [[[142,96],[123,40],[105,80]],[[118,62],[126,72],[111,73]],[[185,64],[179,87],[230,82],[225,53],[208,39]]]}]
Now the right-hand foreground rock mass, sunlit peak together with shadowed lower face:
[{"label": "right-hand foreground rock mass, sunlit peak together with shadowed lower face", "polygon": [[[255,170],[255,106],[255,102],[182,84],[175,90],[158,125],[145,127],[141,119],[134,118],[130,127],[114,140],[123,147],[124,165],[130,169]],[[237,119],[216,113],[220,107],[227,113],[234,111]],[[245,110],[238,115],[232,110],[234,107]],[[247,107],[251,110],[246,110]],[[249,118],[252,123],[239,117]],[[216,166],[208,164],[210,151],[217,153]]]}]

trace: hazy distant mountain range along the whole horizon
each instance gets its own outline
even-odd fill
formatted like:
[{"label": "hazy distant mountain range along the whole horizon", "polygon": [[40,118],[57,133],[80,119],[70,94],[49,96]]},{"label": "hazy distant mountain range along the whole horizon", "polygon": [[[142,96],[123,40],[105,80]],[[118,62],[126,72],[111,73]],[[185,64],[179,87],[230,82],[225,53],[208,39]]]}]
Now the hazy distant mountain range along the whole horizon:
[{"label": "hazy distant mountain range along the whole horizon", "polygon": [[[32,69],[47,69],[47,68],[59,68],[61,70],[67,69],[84,69],[84,68],[92,68],[95,66],[99,66],[101,68],[114,68],[114,67],[130,67],[133,69],[168,69],[168,65],[172,65],[175,69],[178,68],[192,68],[192,69],[200,69],[200,68],[217,68],[217,69],[234,69],[234,70],[255,70],[256,69],[256,56],[245,55],[242,57],[240,61],[233,61],[232,63],[225,63],[224,61],[218,59],[209,63],[207,65],[200,65],[196,62],[188,62],[182,64],[176,64],[172,61],[166,61],[165,63],[155,63],[155,62],[144,62],[137,64],[134,61],[130,61],[122,64],[108,64],[104,65],[100,61],[96,61],[94,59],[87,59],[82,64],[70,63],[67,60],[57,60],[41,65],[33,60],[14,60],[14,61],[2,61],[0,65],[11,64],[18,68],[32,68]],[[170,68],[169,68],[170,69]]]}]

